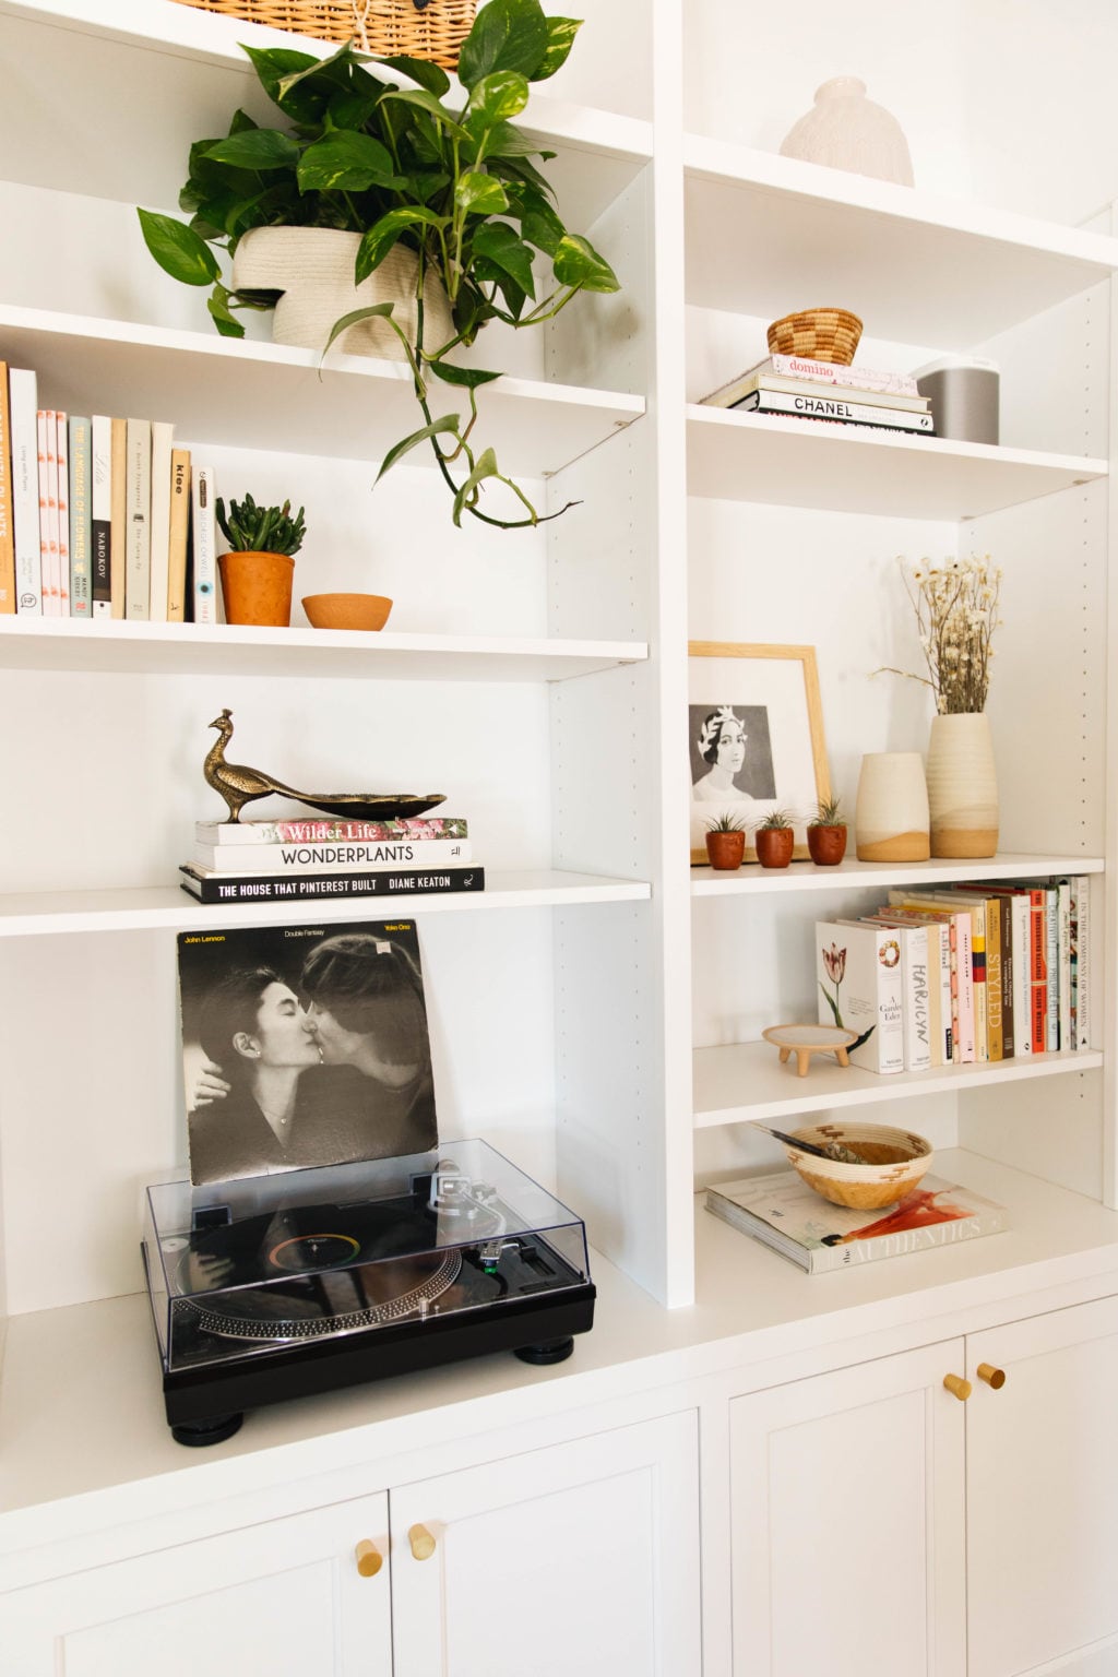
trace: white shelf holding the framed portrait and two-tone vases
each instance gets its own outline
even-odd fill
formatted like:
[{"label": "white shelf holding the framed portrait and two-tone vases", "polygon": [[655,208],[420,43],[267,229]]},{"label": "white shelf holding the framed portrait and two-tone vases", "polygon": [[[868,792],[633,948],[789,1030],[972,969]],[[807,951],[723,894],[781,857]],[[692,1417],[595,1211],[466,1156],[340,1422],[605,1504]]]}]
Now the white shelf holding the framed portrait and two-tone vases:
[{"label": "white shelf holding the framed portrait and two-tone vases", "polygon": [[[853,844],[853,835],[851,835]],[[947,862],[858,862],[846,857],[838,867],[793,862],[786,869],[749,865],[738,872],[692,867],[692,897],[766,896],[773,890],[848,890],[890,885],[934,885],[959,879],[1039,879],[1048,874],[1101,874],[1105,862],[1093,855],[1014,855],[999,852],[986,860]]]}]

